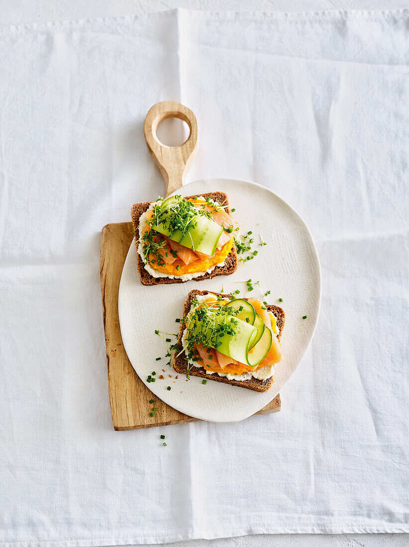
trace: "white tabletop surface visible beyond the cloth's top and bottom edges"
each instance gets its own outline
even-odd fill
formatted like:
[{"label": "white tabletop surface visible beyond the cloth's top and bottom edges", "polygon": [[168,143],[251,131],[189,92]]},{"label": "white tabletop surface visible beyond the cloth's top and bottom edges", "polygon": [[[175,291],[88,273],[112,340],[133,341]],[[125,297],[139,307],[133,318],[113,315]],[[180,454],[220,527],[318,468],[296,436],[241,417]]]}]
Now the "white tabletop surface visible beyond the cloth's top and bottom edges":
[{"label": "white tabletop surface visible beyond the cloth's top and bottom edges", "polygon": [[[117,0],[109,2],[108,0],[71,0],[70,2],[53,2],[52,0],[41,0],[40,2],[31,2],[30,0],[6,0],[3,2],[0,10],[0,25],[24,24],[34,21],[48,21],[61,19],[84,19],[95,18],[108,15],[129,15],[138,14],[141,11],[158,11],[174,7],[187,7],[193,9],[277,9],[277,10],[321,10],[321,9],[390,9],[404,7],[405,4],[392,0],[385,2],[382,0],[321,0],[306,1],[302,0],[279,0],[269,2],[268,0],[250,0],[249,2],[240,2],[240,0],[224,1],[222,6],[217,0],[206,2],[205,0],[155,0],[155,1],[131,1]],[[188,541],[178,544],[178,547],[198,547],[199,545],[212,545],[213,547],[255,547],[261,545],[276,545],[277,547],[318,545],[336,546],[336,547],[370,547],[383,545],[403,546],[408,545],[408,537],[404,534],[390,534],[377,536],[345,534],[342,536],[248,536],[233,539],[218,539],[205,542],[204,540]]]}]

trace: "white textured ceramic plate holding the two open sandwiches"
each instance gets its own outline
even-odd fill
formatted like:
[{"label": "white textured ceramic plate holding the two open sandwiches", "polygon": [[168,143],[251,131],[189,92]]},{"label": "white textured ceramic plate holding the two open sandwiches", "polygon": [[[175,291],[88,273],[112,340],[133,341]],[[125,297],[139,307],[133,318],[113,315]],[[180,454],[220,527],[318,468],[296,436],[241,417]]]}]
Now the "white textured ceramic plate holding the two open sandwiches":
[{"label": "white textured ceramic plate holding the two open sandwiches", "polygon": [[[232,179],[208,179],[188,184],[178,193],[201,195],[217,190],[229,196],[241,233],[253,232],[257,257],[239,264],[237,271],[229,276],[145,287],[139,280],[136,245],[132,243],[119,286],[119,321],[129,360],[141,380],[157,397],[201,420],[236,422],[269,403],[301,362],[318,319],[321,270],[306,224],[287,203],[267,188]],[[267,242],[266,246],[258,246],[259,233]],[[222,292],[224,286],[224,292],[240,289],[240,295],[244,296],[245,282],[249,278],[253,282],[260,281],[263,293],[271,291],[262,300],[280,305],[285,311],[285,327],[281,336],[284,358],[276,365],[272,387],[267,392],[258,393],[211,380],[203,385],[202,379],[194,376],[186,381],[186,376],[179,374],[175,379],[175,371],[166,366],[168,358],[163,357],[166,352],[164,341],[155,334],[155,329],[177,333],[179,325],[175,318],[182,316],[183,302],[190,290]],[[262,292],[256,286],[247,296],[261,297]],[[283,302],[278,302],[279,298],[283,298]],[[304,315],[307,319],[302,319]],[[175,341],[174,336],[166,337]],[[162,359],[157,361],[157,357]],[[157,380],[147,383],[147,376],[153,370],[156,371]],[[160,374],[165,376],[164,380],[158,379]],[[171,387],[170,391],[166,389],[168,386]]]}]

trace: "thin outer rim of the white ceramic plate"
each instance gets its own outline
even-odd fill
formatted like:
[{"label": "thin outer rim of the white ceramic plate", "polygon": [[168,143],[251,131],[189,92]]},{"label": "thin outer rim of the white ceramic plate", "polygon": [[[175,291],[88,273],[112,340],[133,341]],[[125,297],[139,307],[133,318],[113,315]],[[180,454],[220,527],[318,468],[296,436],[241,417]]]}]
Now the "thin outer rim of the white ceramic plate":
[{"label": "thin outer rim of the white ceramic plate", "polygon": [[[259,188],[262,188],[263,190],[267,190],[269,193],[273,194],[273,196],[275,196],[277,199],[279,199],[281,202],[283,202],[293,213],[296,214],[296,216],[298,217],[299,220],[301,220],[302,224],[303,224],[303,227],[304,229],[307,231],[307,234],[309,236],[309,240],[310,240],[310,243],[312,243],[312,249],[314,251],[314,258],[316,259],[316,263],[318,265],[318,287],[319,287],[319,292],[318,292],[318,306],[317,306],[317,312],[316,312],[316,320],[315,320],[315,324],[314,324],[314,328],[312,330],[312,334],[310,335],[310,339],[308,340],[308,344],[306,345],[305,347],[305,350],[304,352],[302,353],[301,355],[301,358],[299,359],[299,362],[297,364],[297,366],[295,367],[295,369],[292,371],[292,373],[290,374],[290,376],[288,377],[288,379],[286,380],[286,382],[284,383],[283,386],[281,386],[281,389],[283,389],[283,387],[286,385],[286,383],[290,380],[291,376],[295,373],[295,371],[298,369],[298,366],[301,364],[303,358],[305,357],[307,351],[308,351],[308,348],[310,347],[311,345],[311,342],[313,340],[313,337],[314,337],[314,334],[315,334],[315,331],[316,331],[316,327],[318,325],[318,320],[319,320],[319,316],[320,316],[320,310],[321,310],[321,294],[322,294],[322,272],[321,272],[321,263],[320,263],[320,259],[319,259],[319,254],[318,254],[318,251],[317,251],[317,248],[316,248],[316,245],[315,245],[315,241],[314,241],[314,238],[310,232],[310,229],[308,228],[308,225],[307,223],[305,222],[305,220],[302,218],[302,216],[289,204],[287,203],[282,197],[280,197],[279,195],[277,195],[273,190],[271,190],[270,188],[264,186],[263,184],[259,184],[257,182],[254,182],[254,181],[246,181],[245,179],[237,179],[237,178],[226,178],[226,177],[209,177],[209,178],[201,178],[201,179],[198,179],[196,181],[191,181],[191,182],[188,182],[187,184],[184,184],[181,188],[178,188],[177,190],[175,190],[174,192],[172,192],[170,194],[170,196],[172,195],[175,195],[178,191],[181,191],[183,188],[186,188],[188,187],[190,184],[194,184],[194,183],[210,183],[210,182],[217,182],[217,181],[220,181],[220,182],[229,182],[229,183],[245,183],[245,184],[249,184],[249,185],[252,185],[252,186],[256,186],[256,187],[259,187]],[[135,373],[137,374],[137,376],[139,377],[139,379],[145,384],[145,386],[149,389],[149,391],[152,391],[151,387],[148,386],[147,382],[145,380],[143,380],[143,378],[138,374],[137,370],[135,369],[135,366],[133,365],[133,363],[131,362],[131,359],[129,358],[128,356],[128,351],[126,350],[126,343],[125,343],[125,340],[124,340],[124,336],[123,336],[123,329],[122,329],[122,319],[121,319],[121,306],[119,304],[120,302],[120,294],[122,292],[122,287],[123,287],[123,272],[125,270],[125,265],[129,259],[129,255],[130,255],[130,252],[131,252],[131,249],[133,249],[133,243],[134,243],[134,238],[133,240],[131,241],[131,245],[129,246],[129,249],[128,249],[128,253],[126,253],[126,258],[125,258],[125,262],[124,262],[124,266],[123,266],[123,269],[122,269],[122,272],[121,272],[121,277],[120,277],[120,282],[119,282],[119,289],[118,289],[118,317],[119,317],[119,328],[120,328],[120,333],[121,333],[121,337],[122,337],[122,343],[123,343],[123,346],[124,346],[124,350],[126,352],[126,356],[128,357],[129,359],[129,362],[131,363],[133,369],[135,370]],[[135,247],[135,252],[136,252],[136,247]],[[152,393],[154,393],[152,391]],[[274,392],[272,392],[274,393]],[[278,392],[279,393],[279,392]],[[278,393],[274,393],[274,395],[270,398],[270,400],[267,402],[267,403],[264,403],[263,406],[265,406],[266,404],[270,403],[274,397],[276,397],[276,395]],[[182,410],[180,408],[178,408],[178,405],[173,405],[173,404],[169,404],[167,401],[164,401],[162,399],[162,397],[160,397],[160,395],[158,395],[157,393],[154,393],[155,397],[158,397],[158,399],[162,400],[163,403],[171,406],[172,408],[174,408],[175,410],[177,410],[178,412],[182,412],[182,414],[187,414],[186,410]],[[258,409],[258,410],[261,410],[261,409]],[[256,410],[257,412],[257,410]],[[206,422],[210,422],[210,423],[237,423],[237,422],[241,422],[243,420],[246,420],[246,418],[250,417],[250,416],[253,416],[254,415],[254,412],[250,412],[250,414],[246,414],[245,416],[243,417],[240,417],[238,418],[237,420],[210,420],[208,417],[203,417],[203,416],[200,416],[200,413],[193,413],[193,414],[187,414],[188,416],[191,416],[192,418],[197,418],[198,420],[202,420],[202,421],[206,421]]]}]

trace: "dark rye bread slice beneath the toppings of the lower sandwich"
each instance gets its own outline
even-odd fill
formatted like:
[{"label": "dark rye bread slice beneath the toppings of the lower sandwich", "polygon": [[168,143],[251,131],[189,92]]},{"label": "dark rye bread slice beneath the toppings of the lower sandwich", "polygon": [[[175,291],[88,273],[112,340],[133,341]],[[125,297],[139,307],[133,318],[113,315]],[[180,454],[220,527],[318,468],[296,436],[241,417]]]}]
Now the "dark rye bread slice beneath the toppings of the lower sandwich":
[{"label": "dark rye bread slice beneath the toppings of the lower sandwich", "polygon": [[[201,294],[201,295],[215,294],[216,296],[231,298],[229,294],[214,293],[212,290],[193,289],[187,295],[187,298],[185,300],[185,305],[183,306],[183,317],[185,317],[189,313],[191,309],[192,299],[195,298],[195,296],[197,296],[198,294]],[[248,299],[245,298],[245,300],[248,300]],[[272,311],[275,317],[277,318],[277,327],[280,330],[277,337],[280,340],[281,333],[283,333],[284,322],[285,322],[284,310],[272,304],[268,304],[266,307],[267,307],[267,310]],[[180,373],[180,374],[187,374],[187,367],[188,367],[185,352],[180,353],[183,349],[182,336],[184,331],[185,331],[185,325],[181,323],[179,336],[177,339],[177,344],[179,347],[178,347],[178,350],[175,351],[175,356],[173,360],[173,368],[176,370],[177,373]],[[180,353],[180,355],[178,355],[178,353]],[[254,391],[260,391],[260,392],[267,391],[268,389],[270,389],[274,381],[272,377],[268,378],[267,380],[257,380],[257,378],[252,378],[251,380],[243,380],[243,381],[228,380],[225,376],[219,376],[217,373],[206,374],[206,371],[202,366],[192,366],[191,369],[189,370],[189,375],[200,376],[201,378],[205,378],[206,380],[215,380],[216,382],[229,383],[232,386],[245,387],[247,389],[253,389]]]}]

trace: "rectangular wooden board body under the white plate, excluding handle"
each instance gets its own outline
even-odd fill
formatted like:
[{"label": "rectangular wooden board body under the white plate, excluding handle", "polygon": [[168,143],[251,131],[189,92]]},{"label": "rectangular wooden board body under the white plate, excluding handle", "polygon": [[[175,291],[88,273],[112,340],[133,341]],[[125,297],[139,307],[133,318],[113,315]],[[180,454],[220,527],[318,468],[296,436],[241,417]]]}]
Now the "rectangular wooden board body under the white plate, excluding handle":
[{"label": "rectangular wooden board body under the white plate, excluding handle", "polygon": [[[133,241],[132,230],[132,223],[122,222],[107,224],[101,234],[102,312],[113,426],[117,431],[125,431],[196,422],[197,418],[182,414],[158,399],[140,380],[126,356],[119,327],[118,290],[125,258]],[[154,400],[153,405],[149,404],[149,399]],[[158,409],[154,417],[149,416],[152,406]],[[280,395],[277,395],[257,414],[277,412],[280,408]]]}]

